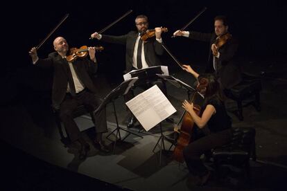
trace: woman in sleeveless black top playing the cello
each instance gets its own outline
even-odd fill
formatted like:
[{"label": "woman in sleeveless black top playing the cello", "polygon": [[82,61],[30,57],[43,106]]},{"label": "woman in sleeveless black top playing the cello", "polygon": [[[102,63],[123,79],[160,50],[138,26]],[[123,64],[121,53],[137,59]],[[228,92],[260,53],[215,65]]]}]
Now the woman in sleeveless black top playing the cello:
[{"label": "woman in sleeveless black top playing the cello", "polygon": [[210,149],[229,143],[232,138],[232,121],[227,115],[223,93],[215,76],[213,74],[199,75],[188,65],[183,65],[183,68],[198,80],[197,90],[205,97],[199,116],[193,110],[193,102],[184,100],[182,103],[182,107],[189,112],[198,128],[202,129],[207,125],[209,129],[209,134],[192,141],[183,150],[189,172],[198,176],[199,184],[204,185],[211,172],[202,163],[200,156]]}]

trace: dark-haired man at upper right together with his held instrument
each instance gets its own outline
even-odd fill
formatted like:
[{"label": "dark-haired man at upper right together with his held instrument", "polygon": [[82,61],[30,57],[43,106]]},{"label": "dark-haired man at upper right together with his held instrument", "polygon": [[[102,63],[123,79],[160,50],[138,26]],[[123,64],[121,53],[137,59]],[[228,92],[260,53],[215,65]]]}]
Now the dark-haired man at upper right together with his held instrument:
[{"label": "dark-haired man at upper right together with his held instrument", "polygon": [[236,63],[238,41],[228,32],[225,16],[214,18],[214,33],[198,33],[195,31],[177,30],[173,35],[189,37],[210,43],[206,73],[215,72],[224,90],[234,87],[241,82],[241,70]]}]

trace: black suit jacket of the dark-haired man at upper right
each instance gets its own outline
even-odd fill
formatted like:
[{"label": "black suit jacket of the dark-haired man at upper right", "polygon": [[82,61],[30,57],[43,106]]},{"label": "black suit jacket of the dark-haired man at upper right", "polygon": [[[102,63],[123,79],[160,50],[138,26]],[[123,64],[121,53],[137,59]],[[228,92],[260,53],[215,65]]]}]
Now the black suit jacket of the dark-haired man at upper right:
[{"label": "black suit jacket of the dark-haired man at upper right", "polygon": [[[214,60],[211,53],[211,44],[216,42],[215,33],[198,33],[191,31],[189,32],[189,38],[196,39],[204,42],[209,42],[209,57],[207,63],[207,69],[205,72],[214,72]],[[216,75],[218,76],[223,89],[230,89],[234,85],[241,82],[241,70],[238,66],[236,59],[236,52],[238,49],[238,41],[234,37],[227,40],[223,46],[218,48],[220,57],[216,58],[216,65],[218,67]]]}]

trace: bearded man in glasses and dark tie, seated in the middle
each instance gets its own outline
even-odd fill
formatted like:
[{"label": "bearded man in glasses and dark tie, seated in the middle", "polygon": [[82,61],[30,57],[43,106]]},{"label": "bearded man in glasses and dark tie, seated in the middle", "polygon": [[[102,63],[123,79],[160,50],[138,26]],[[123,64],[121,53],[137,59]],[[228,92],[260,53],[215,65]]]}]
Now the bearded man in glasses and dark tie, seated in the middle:
[{"label": "bearded man in glasses and dark tie, seated in the middle", "polygon": [[[98,33],[93,33],[92,38],[100,39],[103,42],[109,42],[114,44],[125,45],[125,73],[132,70],[145,69],[150,66],[160,66],[161,62],[159,60],[159,55],[164,53],[164,48],[162,48],[162,28],[155,28],[155,37],[149,38],[146,42],[141,40],[141,35],[146,33],[148,30],[148,17],[146,15],[139,15],[134,20],[137,31],[130,31],[128,34],[121,36],[112,35],[101,35]],[[143,89],[148,89],[153,84],[157,84],[159,89],[161,89],[166,94],[166,87],[162,81],[152,82],[152,84],[142,85]],[[125,102],[132,99],[134,93],[129,91],[125,94]],[[133,127],[135,122],[134,116],[128,121],[128,127]]]}]

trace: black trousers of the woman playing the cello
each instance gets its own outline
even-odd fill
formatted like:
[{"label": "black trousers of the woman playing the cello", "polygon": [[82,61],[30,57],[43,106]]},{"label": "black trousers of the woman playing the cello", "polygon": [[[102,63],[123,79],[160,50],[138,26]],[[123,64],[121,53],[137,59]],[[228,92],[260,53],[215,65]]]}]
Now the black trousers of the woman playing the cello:
[{"label": "black trousers of the woman playing the cello", "polygon": [[210,149],[229,143],[232,139],[232,129],[226,129],[217,133],[211,133],[191,142],[183,150],[184,160],[189,172],[195,176],[204,176],[207,167],[203,164],[200,156]]}]

